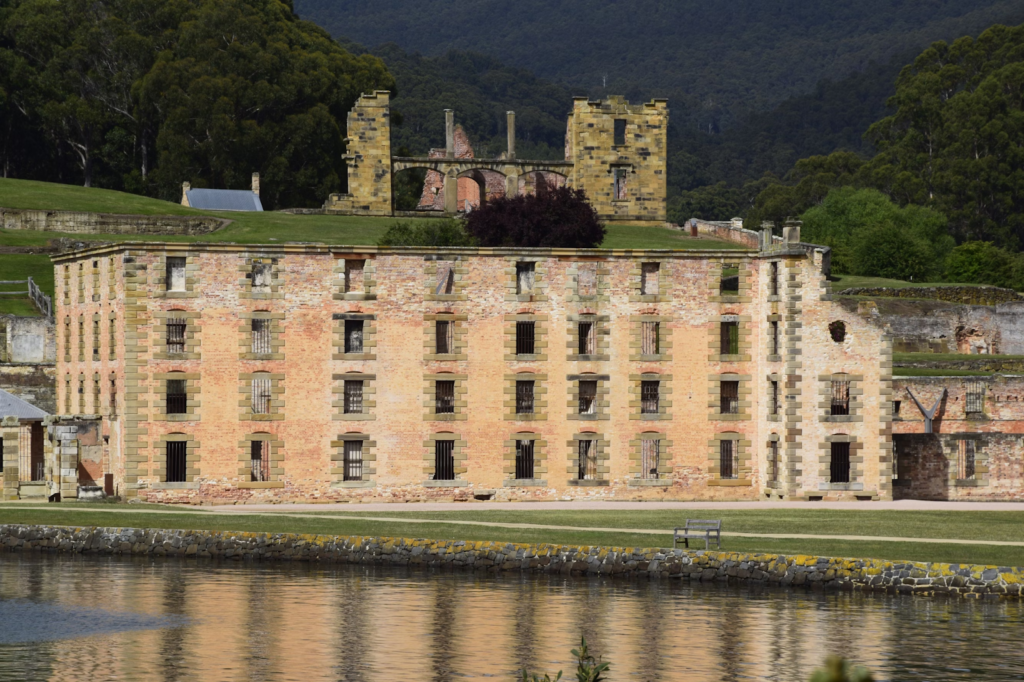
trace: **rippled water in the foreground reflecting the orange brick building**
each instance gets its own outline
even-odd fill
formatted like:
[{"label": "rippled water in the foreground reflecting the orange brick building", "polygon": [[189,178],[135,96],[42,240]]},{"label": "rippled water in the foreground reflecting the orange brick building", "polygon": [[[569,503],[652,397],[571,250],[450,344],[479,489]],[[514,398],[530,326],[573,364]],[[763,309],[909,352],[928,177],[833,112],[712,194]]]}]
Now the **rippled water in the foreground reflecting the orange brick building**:
[{"label": "rippled water in the foreground reflecting the orange brick building", "polygon": [[[680,583],[0,554],[0,680],[1024,679],[1024,608]],[[574,676],[573,676],[574,677]],[[563,678],[564,679],[564,678]]]}]

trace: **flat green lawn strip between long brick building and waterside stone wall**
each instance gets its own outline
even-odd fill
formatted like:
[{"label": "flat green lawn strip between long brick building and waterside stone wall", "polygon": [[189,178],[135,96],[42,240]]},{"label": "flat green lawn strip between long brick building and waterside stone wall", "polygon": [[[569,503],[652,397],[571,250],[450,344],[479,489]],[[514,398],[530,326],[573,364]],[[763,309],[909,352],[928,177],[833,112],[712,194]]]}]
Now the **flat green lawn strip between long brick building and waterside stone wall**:
[{"label": "flat green lawn strip between long brick building and waterside stone wall", "polygon": [[[248,530],[343,536],[389,536],[449,540],[492,540],[612,547],[671,547],[671,528],[687,517],[721,518],[726,532],[815,535],[831,539],[723,538],[726,551],[811,554],[893,560],[1024,565],[1024,547],[924,543],[905,539],[980,540],[1024,543],[1024,512],[869,511],[869,510],[487,510],[467,504],[466,511],[290,512],[287,505],[266,513],[222,514],[204,509],[154,505],[0,505],[0,522],[52,525],[105,525],[143,528]],[[368,520],[356,516],[386,518]],[[393,520],[392,520],[393,519]],[[414,519],[416,522],[414,522]],[[420,522],[426,521],[426,522]],[[458,521],[476,524],[462,525]],[[482,525],[480,524],[482,523]],[[508,528],[488,523],[526,523],[568,528]],[[602,528],[606,530],[595,530]],[[621,528],[621,530],[620,530]],[[640,534],[637,529],[665,531]],[[843,540],[837,536],[870,537]],[[885,540],[890,538],[892,540]],[[904,539],[904,540],[897,540]]]}]

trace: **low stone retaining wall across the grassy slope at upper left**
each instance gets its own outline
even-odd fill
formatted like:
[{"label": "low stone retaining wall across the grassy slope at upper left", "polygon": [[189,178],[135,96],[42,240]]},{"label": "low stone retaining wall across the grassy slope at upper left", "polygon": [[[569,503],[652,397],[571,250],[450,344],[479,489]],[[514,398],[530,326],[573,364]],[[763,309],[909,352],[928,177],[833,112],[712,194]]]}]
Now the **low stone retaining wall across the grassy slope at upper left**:
[{"label": "low stone retaining wall across the grassy slope at upper left", "polygon": [[0,208],[0,228],[74,235],[208,235],[229,220],[210,216],[121,215]]}]

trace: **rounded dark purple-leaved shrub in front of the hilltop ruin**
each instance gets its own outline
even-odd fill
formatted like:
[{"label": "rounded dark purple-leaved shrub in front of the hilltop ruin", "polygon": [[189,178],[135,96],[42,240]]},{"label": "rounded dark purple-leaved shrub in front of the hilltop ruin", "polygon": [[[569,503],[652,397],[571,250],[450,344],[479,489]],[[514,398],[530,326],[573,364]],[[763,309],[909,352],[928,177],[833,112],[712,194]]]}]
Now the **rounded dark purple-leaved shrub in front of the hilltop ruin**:
[{"label": "rounded dark purple-leaved shrub in front of the hilltop ruin", "polygon": [[569,187],[489,200],[469,214],[466,230],[485,247],[593,249],[604,241],[587,195]]}]

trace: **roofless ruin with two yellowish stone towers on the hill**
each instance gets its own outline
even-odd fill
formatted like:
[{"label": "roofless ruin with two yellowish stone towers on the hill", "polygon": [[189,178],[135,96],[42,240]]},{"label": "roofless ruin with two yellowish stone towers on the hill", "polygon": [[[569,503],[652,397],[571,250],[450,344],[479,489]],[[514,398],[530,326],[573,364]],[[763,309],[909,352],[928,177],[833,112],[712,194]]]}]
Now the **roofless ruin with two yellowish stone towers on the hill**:
[{"label": "roofless ruin with two yellowish stone towers on the hill", "polygon": [[[395,173],[427,169],[420,209],[445,214],[465,211],[489,198],[515,196],[548,184],[582,188],[602,220],[662,223],[667,217],[665,99],[631,104],[623,97],[572,101],[564,161],[520,160],[515,154],[515,115],[508,115],[508,150],[497,159],[477,159],[465,133],[445,111],[445,148],[427,157],[391,156],[390,94],[365,94],[348,115],[348,191],[331,195],[329,213],[393,215]],[[475,202],[475,203],[474,203]]]}]

